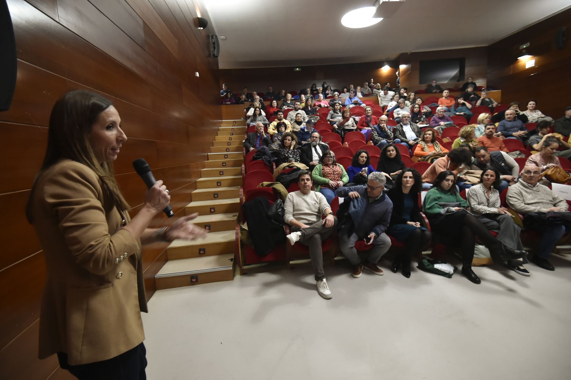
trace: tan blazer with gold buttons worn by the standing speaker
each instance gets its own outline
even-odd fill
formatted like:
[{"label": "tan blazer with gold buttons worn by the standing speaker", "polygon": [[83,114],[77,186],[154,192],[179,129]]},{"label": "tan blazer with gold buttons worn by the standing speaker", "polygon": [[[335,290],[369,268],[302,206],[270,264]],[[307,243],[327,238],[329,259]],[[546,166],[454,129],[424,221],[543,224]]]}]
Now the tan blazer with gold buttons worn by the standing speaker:
[{"label": "tan blazer with gold buttons worn by the standing speaker", "polygon": [[71,365],[110,359],[144,340],[140,241],[85,165],[61,160],[38,180],[34,228],[46,259],[39,358]]}]

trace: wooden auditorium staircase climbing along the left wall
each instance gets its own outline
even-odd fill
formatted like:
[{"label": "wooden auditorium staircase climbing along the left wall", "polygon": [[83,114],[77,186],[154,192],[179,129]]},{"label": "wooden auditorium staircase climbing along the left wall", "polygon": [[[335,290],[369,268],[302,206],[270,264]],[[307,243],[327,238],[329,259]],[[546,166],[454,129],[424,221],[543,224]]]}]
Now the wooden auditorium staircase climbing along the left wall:
[{"label": "wooden auditorium staircase climbing along the left wall", "polygon": [[184,208],[186,215],[198,212],[192,223],[210,231],[206,238],[175,240],[168,246],[167,262],[155,275],[157,290],[234,279],[245,133],[244,120],[222,121],[192,201]]}]

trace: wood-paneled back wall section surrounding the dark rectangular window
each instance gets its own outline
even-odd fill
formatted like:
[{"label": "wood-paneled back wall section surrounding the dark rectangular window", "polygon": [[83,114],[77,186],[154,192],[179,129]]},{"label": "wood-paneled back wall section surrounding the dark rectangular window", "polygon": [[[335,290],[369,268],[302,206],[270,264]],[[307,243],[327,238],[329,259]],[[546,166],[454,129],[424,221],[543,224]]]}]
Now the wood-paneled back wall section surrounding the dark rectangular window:
[{"label": "wood-paneled back wall section surrounding the dark rectangular window", "polygon": [[[409,91],[424,90],[429,83],[420,83],[420,61],[428,59],[465,58],[465,78],[472,76],[478,86],[486,86],[486,60],[485,46],[463,49],[419,51],[399,55],[400,84],[408,87]],[[465,81],[464,81],[465,82]],[[439,83],[440,87],[461,87],[464,82]]]}]

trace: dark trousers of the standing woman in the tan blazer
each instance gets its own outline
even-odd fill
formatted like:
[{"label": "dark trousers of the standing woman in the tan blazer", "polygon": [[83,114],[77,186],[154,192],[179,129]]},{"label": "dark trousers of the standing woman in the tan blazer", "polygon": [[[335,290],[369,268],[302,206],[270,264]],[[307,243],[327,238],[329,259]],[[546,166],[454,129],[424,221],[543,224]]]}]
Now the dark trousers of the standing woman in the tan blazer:
[{"label": "dark trousers of the standing woman in the tan blazer", "polygon": [[146,380],[147,350],[143,343],[114,358],[100,362],[70,365],[67,354],[58,353],[59,366],[79,380]]}]

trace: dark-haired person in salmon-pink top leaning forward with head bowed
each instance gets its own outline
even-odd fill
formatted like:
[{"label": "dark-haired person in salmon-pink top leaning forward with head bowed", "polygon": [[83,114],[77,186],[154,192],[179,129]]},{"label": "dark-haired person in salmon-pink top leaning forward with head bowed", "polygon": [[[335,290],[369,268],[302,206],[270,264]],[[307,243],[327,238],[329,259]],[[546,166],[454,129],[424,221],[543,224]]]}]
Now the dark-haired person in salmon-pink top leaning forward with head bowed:
[{"label": "dark-haired person in salmon-pink top leaning forward with head bowed", "polygon": [[452,149],[444,157],[440,157],[430,165],[423,174],[423,189],[429,189],[435,183],[436,177],[443,171],[452,171],[458,176],[457,186],[460,189],[468,189],[472,185],[465,183],[466,177],[461,175],[472,165],[472,154],[468,149],[456,148]]}]

